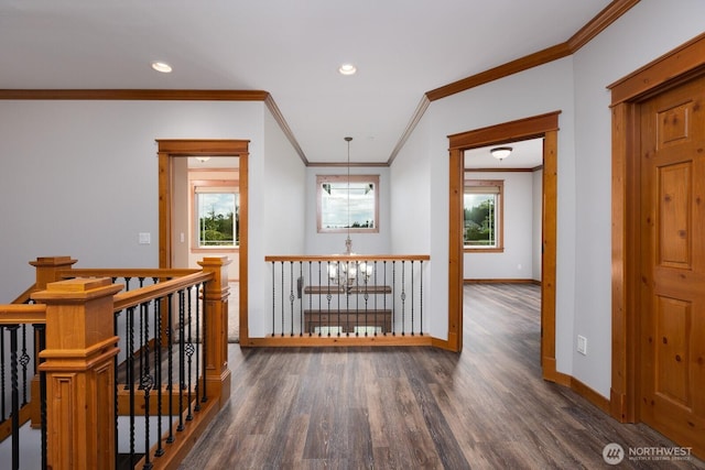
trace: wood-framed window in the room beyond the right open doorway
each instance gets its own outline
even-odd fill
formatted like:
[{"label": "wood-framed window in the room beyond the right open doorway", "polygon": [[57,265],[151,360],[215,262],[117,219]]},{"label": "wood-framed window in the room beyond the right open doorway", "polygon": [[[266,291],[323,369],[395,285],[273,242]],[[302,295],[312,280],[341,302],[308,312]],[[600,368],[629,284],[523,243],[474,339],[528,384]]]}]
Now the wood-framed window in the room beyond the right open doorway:
[{"label": "wood-framed window in the room beyond the right open doorway", "polygon": [[466,251],[503,251],[503,181],[465,182],[463,243]]}]

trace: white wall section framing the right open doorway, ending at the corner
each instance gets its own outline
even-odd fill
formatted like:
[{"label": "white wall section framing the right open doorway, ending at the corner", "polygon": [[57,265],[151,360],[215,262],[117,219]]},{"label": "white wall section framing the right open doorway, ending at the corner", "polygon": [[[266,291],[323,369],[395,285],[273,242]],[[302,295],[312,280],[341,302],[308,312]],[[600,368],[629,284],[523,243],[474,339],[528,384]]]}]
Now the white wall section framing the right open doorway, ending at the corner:
[{"label": "white wall section framing the right open doorway, ending at the corner", "polygon": [[[448,140],[447,135],[530,116],[561,110],[558,136],[558,272],[556,341],[558,370],[570,373],[573,331],[574,195],[573,64],[570,57],[490,83],[431,103],[417,130],[394,161],[394,172],[427,172],[429,249],[432,280],[429,295],[432,335],[447,336],[448,265]],[[420,129],[420,130],[419,130]],[[416,133],[421,132],[417,138]],[[420,139],[420,140],[417,140]],[[425,155],[417,154],[419,149]],[[425,157],[424,164],[419,160]],[[405,170],[404,170],[405,168]],[[421,214],[424,215],[423,212]],[[394,239],[395,241],[397,239]],[[529,262],[531,265],[531,262]]]}]

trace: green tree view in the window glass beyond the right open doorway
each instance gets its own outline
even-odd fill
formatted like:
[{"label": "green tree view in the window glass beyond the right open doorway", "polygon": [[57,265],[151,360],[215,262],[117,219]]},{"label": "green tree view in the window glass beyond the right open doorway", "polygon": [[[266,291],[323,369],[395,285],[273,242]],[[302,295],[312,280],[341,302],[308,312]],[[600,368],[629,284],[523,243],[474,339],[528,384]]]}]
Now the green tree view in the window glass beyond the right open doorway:
[{"label": "green tree view in the window glass beyond the right open doorway", "polygon": [[466,247],[497,247],[497,194],[465,194]]}]

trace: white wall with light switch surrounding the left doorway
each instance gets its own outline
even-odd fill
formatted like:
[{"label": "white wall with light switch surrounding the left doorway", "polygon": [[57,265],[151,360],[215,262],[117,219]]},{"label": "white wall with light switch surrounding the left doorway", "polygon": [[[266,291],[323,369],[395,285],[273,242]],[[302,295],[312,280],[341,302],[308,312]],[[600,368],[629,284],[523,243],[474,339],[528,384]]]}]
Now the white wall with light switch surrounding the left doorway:
[{"label": "white wall with light switch surrounding the left doorway", "polygon": [[[0,302],[34,282],[28,262],[36,256],[70,255],[77,267],[155,267],[155,140],[250,139],[252,160],[262,160],[263,106],[0,101],[0,243],[2,272],[11,273]],[[152,243],[138,244],[139,232],[151,233]]]}]

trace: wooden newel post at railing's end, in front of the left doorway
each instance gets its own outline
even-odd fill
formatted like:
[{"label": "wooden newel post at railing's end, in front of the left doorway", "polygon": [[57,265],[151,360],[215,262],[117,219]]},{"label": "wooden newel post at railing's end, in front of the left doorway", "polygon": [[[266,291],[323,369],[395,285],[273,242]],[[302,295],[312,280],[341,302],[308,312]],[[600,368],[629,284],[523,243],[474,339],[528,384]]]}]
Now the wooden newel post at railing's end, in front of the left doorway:
[{"label": "wooden newel post at railing's end, in front of the left doorway", "polygon": [[230,398],[230,370],[228,369],[228,264],[227,256],[204,258],[198,264],[215,274],[206,284],[206,392],[217,398],[219,406]]}]

